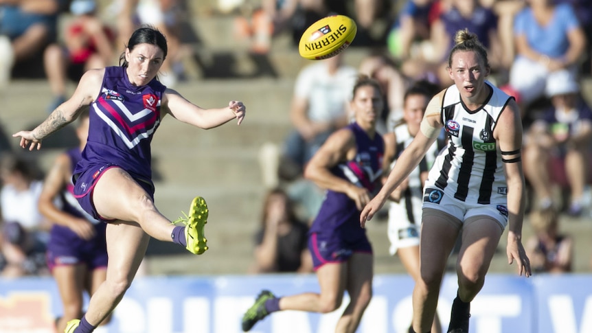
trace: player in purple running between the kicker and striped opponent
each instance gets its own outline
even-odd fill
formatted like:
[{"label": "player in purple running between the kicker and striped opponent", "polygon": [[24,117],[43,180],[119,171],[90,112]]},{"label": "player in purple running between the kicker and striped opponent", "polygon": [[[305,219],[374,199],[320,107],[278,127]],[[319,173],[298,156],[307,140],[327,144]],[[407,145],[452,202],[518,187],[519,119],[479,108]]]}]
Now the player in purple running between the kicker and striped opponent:
[{"label": "player in purple running between the kicker and striped opponent", "polygon": [[244,332],[276,311],[332,312],[347,291],[350,303],[335,332],[353,333],[372,298],[372,246],[358,217],[382,174],[384,143],[376,121],[384,100],[378,82],[358,78],[350,106],[355,122],[333,133],[305,169],[306,178],[327,190],[308,239],[321,292],[276,297],[263,290],[242,317]]}]

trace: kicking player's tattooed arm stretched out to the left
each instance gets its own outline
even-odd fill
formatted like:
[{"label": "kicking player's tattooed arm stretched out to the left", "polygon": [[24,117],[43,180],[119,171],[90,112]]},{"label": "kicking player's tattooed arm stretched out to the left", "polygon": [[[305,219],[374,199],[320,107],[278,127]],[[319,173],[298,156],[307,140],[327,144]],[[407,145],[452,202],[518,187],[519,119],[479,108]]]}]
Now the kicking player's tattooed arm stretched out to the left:
[{"label": "kicking player's tattooed arm stretched out to the left", "polygon": [[29,146],[29,150],[41,149],[41,141],[45,137],[73,122],[99,95],[103,75],[104,69],[91,69],[84,73],[72,97],[60,104],[41,125],[34,130],[21,130],[14,133],[12,137],[21,137],[19,146],[22,148]]}]

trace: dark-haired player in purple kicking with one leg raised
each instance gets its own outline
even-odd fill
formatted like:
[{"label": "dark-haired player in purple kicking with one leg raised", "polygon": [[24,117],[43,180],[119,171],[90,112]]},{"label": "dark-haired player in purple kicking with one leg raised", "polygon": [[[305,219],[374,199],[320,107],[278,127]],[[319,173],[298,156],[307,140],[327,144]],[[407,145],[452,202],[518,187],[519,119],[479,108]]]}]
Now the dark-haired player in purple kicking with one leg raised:
[{"label": "dark-haired player in purple kicking with one leg raised", "polygon": [[208,210],[203,198],[192,201],[183,220],[186,225],[174,225],[155,207],[150,143],[166,115],[209,129],[231,119],[240,124],[246,108],[231,101],[224,108],[204,109],[163,86],[157,73],[166,55],[165,36],[153,27],[140,27],[119,57],[120,66],[87,71],[72,97],[45,122],[13,135],[21,137],[22,148],[40,149],[45,137],[90,105],[87,146],[73,172],[74,194],[87,213],[107,223],[109,264],[87,313],[70,321],[67,333],[93,332],[115,309],[137,273],[150,236],[176,242],[194,254],[207,250],[203,229]]}]

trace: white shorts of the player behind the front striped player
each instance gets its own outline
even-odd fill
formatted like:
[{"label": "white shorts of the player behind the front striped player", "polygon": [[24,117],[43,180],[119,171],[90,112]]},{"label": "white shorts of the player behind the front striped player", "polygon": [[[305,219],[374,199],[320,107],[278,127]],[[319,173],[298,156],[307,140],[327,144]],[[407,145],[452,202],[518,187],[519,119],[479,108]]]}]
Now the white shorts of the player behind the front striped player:
[{"label": "white shorts of the player behind the front striped player", "polygon": [[420,225],[422,222],[422,200],[411,198],[413,207],[413,219],[408,218],[405,201],[389,203],[389,225],[387,235],[391,246],[389,253],[395,255],[402,247],[418,246],[420,244]]}]

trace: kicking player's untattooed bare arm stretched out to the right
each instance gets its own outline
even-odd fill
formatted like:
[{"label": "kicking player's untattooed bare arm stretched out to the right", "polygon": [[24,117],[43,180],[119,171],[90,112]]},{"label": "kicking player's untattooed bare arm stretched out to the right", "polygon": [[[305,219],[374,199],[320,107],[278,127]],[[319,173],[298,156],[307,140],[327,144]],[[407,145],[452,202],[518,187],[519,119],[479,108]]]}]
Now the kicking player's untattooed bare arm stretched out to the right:
[{"label": "kicking player's untattooed bare arm stretched out to the right", "polygon": [[238,101],[230,101],[226,108],[201,108],[173,89],[166,89],[162,107],[175,119],[204,129],[218,127],[232,119],[237,119],[240,125],[247,113],[247,107]]}]

